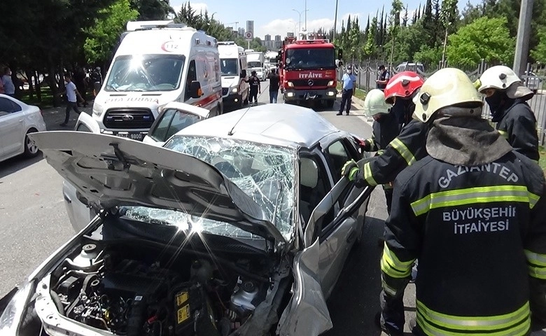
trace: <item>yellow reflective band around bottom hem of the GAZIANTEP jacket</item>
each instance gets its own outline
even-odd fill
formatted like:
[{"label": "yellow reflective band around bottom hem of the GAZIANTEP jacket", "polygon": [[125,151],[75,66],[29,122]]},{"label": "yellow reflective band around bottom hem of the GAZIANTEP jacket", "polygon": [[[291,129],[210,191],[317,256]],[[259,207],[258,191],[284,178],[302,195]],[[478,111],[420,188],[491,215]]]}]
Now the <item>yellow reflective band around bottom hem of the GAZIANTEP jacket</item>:
[{"label": "yellow reflective band around bottom hem of the GAZIANTEP jacket", "polygon": [[498,316],[451,316],[428,309],[419,300],[416,309],[419,326],[430,331],[429,335],[525,335],[531,325],[528,302],[512,313]]}]

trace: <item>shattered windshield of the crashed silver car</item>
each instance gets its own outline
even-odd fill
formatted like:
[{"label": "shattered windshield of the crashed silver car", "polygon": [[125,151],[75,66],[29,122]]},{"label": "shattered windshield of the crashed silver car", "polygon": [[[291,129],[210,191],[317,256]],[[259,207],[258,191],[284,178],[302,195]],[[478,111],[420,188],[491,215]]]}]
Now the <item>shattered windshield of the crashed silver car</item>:
[{"label": "shattered windshield of the crashed silver car", "polygon": [[[238,139],[175,136],[164,146],[213,165],[250,196],[286,239],[293,232],[295,162],[292,148]],[[125,216],[149,223],[176,225],[181,230],[230,237],[258,238],[229,223],[190,216],[179,211],[123,207]]]}]

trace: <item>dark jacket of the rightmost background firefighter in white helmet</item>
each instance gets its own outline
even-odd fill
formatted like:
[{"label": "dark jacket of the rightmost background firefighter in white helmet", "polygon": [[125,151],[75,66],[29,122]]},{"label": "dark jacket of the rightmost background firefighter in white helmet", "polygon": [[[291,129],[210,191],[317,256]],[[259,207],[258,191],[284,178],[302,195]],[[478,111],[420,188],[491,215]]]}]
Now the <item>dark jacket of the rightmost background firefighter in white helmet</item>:
[{"label": "dark jacket of the rightmost background firefighter in white helmet", "polygon": [[505,137],[510,146],[527,158],[538,161],[538,135],[535,113],[526,102],[516,100],[512,106],[493,116],[498,121],[496,129]]}]

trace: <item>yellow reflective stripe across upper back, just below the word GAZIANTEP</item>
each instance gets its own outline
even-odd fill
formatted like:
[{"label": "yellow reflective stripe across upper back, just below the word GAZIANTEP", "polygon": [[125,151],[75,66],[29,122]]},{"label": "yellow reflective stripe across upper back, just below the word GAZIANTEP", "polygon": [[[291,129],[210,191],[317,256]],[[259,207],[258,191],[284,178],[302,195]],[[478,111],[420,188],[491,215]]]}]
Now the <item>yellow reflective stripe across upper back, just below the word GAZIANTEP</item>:
[{"label": "yellow reflective stripe across upper back, just below the word GAZIANTEP", "polygon": [[412,202],[411,206],[415,216],[440,207],[490,202],[524,202],[533,209],[539,198],[529,193],[526,186],[489,186],[432,193]]}]

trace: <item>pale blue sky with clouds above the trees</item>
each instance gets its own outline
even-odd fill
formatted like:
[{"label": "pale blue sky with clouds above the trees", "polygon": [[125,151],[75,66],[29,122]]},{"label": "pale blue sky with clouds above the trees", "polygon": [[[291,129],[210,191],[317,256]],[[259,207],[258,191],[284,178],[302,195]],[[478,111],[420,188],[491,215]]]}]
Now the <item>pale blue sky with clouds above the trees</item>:
[{"label": "pale blue sky with clouds above the trees", "polygon": [[[392,0],[337,0],[337,29],[341,29],[342,20],[351,15],[352,18],[358,17],[360,27],[364,28],[367,22],[367,16],[374,17],[377,10],[381,13],[381,7],[385,6],[385,11],[391,10]],[[472,4],[480,3],[481,0],[459,0],[458,8],[463,10],[467,1]],[[188,0],[170,0],[171,6],[178,12]],[[307,2],[307,12],[305,12]],[[264,38],[269,34],[274,38],[275,35],[286,36],[287,31],[299,31],[300,25],[305,27],[305,15],[307,13],[307,31],[324,28],[326,30],[334,27],[336,0],[197,0],[190,1],[192,8],[199,10],[208,10],[209,15],[214,13],[214,18],[222,22],[226,27],[235,29],[244,27],[246,29],[246,20],[254,21],[253,34],[255,37]],[[407,5],[409,18],[411,20],[413,13],[419,8],[419,3],[424,6],[426,0],[402,0]],[[440,1],[441,3],[441,1]],[[297,13],[296,11],[299,11]],[[298,22],[301,18],[301,24]]]}]

